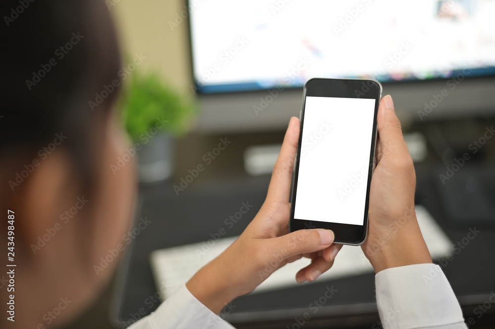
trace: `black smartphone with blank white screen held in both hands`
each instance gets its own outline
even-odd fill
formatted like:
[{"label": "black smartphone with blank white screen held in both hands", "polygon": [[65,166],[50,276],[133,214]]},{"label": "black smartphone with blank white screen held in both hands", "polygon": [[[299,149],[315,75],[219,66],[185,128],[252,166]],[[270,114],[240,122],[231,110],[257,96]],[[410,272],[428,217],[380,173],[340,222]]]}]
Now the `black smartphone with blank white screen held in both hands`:
[{"label": "black smartphone with blank white screen held in both hands", "polygon": [[330,229],[335,243],[351,245],[366,239],[381,91],[375,80],[304,85],[290,232]]}]

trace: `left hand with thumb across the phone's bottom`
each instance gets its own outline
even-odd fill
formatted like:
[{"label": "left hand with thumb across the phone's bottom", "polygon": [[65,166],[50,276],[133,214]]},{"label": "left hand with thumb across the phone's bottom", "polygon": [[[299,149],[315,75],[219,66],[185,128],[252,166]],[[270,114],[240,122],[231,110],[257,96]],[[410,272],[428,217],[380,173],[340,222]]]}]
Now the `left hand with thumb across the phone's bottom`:
[{"label": "left hand with thumb across the phone's bottom", "polygon": [[258,214],[244,233],[187,283],[198,300],[219,313],[232,299],[253,290],[275,270],[301,257],[311,264],[301,269],[297,282],[313,281],[332,267],[342,245],[332,244],[330,230],[289,233],[289,193],[299,138],[299,120],[292,118]]}]

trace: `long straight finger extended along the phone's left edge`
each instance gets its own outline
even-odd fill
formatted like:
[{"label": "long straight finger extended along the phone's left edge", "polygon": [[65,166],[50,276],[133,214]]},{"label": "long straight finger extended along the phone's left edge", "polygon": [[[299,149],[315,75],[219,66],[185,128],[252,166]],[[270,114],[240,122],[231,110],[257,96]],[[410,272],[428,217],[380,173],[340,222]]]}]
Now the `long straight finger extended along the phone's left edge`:
[{"label": "long straight finger extended along the phone's left edge", "polygon": [[277,162],[273,167],[267,200],[271,202],[288,202],[291,189],[292,169],[299,141],[299,119],[292,117],[285,134]]}]

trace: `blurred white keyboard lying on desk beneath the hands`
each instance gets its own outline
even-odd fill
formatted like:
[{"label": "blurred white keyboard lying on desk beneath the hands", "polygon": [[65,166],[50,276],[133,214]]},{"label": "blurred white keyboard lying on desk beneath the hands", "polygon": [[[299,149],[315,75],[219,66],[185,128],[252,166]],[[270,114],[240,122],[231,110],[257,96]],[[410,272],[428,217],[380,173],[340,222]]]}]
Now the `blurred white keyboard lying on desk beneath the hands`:
[{"label": "blurred white keyboard lying on desk beneath the hands", "polygon": [[[416,205],[421,233],[433,259],[446,256],[452,250],[452,241],[438,226],[430,213],[423,206]],[[150,254],[150,263],[157,289],[162,291],[162,300],[173,294],[182,284],[191,279],[194,274],[208,262],[220,255],[237,236],[182,245],[172,248],[155,250]],[[296,273],[307,266],[310,259],[301,258],[275,271],[268,279],[256,287],[252,293],[283,289],[301,284],[297,283]],[[344,245],[335,258],[332,268],[320,275],[315,282],[335,280],[356,276],[364,273],[373,273],[373,267],[359,246]]]}]

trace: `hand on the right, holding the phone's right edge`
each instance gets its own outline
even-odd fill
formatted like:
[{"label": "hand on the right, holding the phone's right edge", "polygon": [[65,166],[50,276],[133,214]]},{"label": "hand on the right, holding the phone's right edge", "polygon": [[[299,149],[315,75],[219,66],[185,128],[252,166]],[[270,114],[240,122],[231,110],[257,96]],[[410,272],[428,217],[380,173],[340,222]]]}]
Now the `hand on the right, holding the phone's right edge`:
[{"label": "hand on the right, holding the phone's right edge", "polygon": [[361,245],[378,273],[431,263],[414,212],[416,174],[389,95],[378,108],[377,165],[370,188],[369,231]]}]

